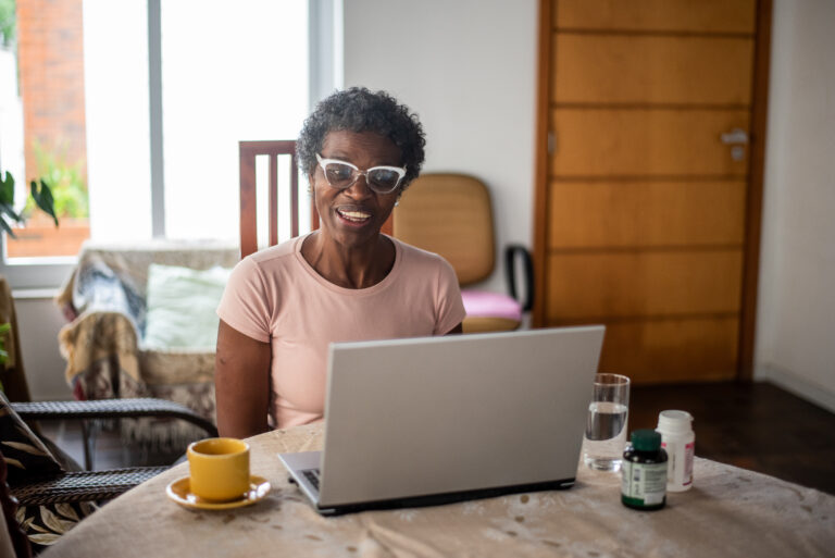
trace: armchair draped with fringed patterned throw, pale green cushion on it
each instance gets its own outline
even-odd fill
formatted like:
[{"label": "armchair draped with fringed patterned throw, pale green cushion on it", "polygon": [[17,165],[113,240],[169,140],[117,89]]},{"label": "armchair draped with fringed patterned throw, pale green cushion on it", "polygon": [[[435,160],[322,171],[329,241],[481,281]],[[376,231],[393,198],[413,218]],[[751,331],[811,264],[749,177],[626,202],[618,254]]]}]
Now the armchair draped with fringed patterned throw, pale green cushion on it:
[{"label": "armchair draped with fringed patterned throw, pale green cushion on it", "polygon": [[[237,261],[238,248],[229,244],[85,244],[57,298],[71,320],[61,330],[59,344],[75,398],[155,398],[179,404],[176,412],[190,409],[191,418],[180,412],[185,421],[161,419],[157,412],[163,404],[154,404],[152,412],[120,421],[124,439],[150,450],[179,451],[188,442],[204,437],[205,426],[214,420],[214,307],[227,270]],[[177,306],[184,303],[186,310]],[[198,306],[208,319],[190,313]],[[185,319],[189,326],[214,322],[203,327],[209,331],[208,340],[202,335],[202,340],[190,343],[189,335],[184,335],[175,344],[177,334],[191,331],[173,324],[175,319]],[[113,412],[121,405],[99,401],[97,410],[105,412],[107,407],[107,412]],[[124,405],[129,412],[144,412],[142,402]]]}]

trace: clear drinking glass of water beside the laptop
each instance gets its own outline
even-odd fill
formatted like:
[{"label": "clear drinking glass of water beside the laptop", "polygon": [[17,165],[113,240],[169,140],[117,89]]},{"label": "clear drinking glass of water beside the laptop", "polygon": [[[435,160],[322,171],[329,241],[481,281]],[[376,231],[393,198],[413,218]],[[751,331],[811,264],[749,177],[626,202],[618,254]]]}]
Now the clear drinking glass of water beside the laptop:
[{"label": "clear drinking glass of water beside the laptop", "polygon": [[583,439],[586,467],[620,471],[628,409],[630,379],[620,374],[597,374]]}]

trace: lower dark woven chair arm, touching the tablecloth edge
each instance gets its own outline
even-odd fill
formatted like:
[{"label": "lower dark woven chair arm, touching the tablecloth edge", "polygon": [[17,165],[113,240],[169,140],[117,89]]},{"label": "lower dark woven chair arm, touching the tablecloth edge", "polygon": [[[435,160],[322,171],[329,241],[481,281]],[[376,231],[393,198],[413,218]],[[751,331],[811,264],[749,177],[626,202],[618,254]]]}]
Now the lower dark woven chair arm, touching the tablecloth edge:
[{"label": "lower dark woven chair arm, touching the tablecloth edge", "polygon": [[135,467],[109,471],[63,472],[53,478],[33,480],[10,488],[21,506],[109,500],[167,469]]}]

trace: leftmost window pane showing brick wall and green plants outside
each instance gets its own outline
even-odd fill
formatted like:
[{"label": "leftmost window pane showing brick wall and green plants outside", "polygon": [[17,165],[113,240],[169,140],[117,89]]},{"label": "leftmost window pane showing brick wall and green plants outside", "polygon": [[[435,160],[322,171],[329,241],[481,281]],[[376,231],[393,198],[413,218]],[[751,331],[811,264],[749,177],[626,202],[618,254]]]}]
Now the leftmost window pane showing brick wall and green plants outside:
[{"label": "leftmost window pane showing brick wall and green plants outside", "polygon": [[[50,12],[0,0],[0,164],[15,178],[15,209],[29,214],[5,245],[10,258],[73,256],[89,236],[80,2]],[[60,232],[27,202],[33,178],[50,186]]]}]

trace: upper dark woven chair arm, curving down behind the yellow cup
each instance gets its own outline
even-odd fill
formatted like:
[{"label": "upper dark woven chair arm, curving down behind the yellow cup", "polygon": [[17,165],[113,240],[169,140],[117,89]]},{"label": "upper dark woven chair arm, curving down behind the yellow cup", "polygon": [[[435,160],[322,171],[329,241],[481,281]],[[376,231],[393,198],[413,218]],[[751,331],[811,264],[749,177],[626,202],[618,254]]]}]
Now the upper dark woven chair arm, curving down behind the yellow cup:
[{"label": "upper dark woven chair arm, curving down behind the yellow cup", "polygon": [[60,419],[135,419],[137,417],[170,417],[188,421],[203,429],[210,437],[217,427],[209,420],[178,402],[166,399],[96,399],[89,401],[13,402],[12,408],[24,421]]}]

